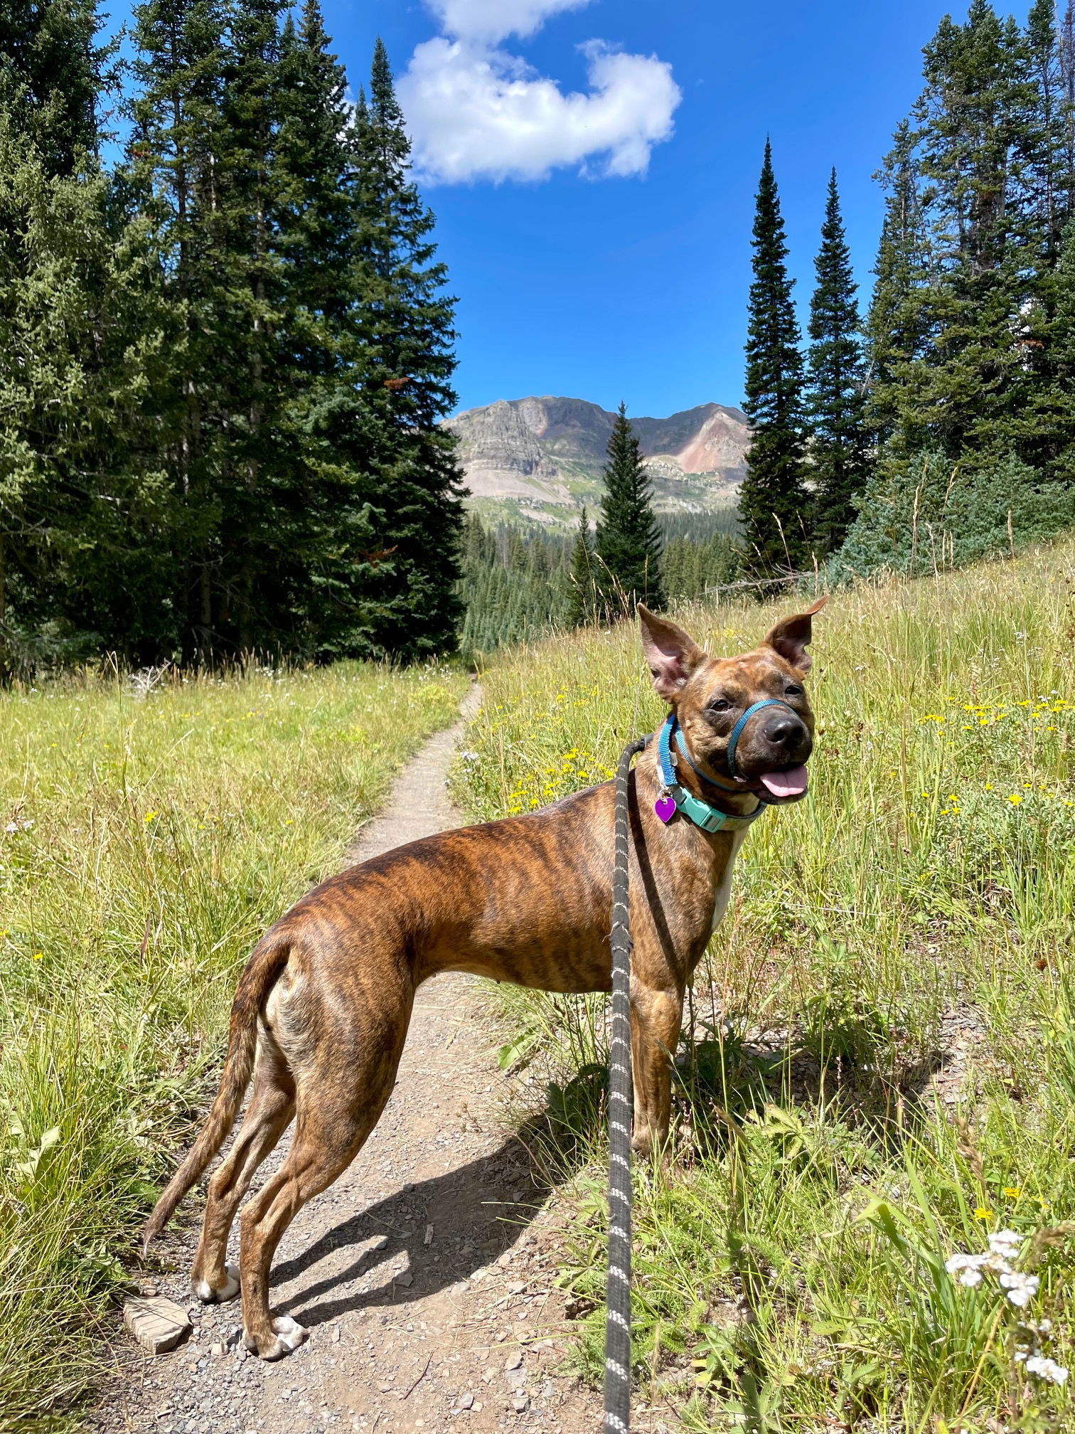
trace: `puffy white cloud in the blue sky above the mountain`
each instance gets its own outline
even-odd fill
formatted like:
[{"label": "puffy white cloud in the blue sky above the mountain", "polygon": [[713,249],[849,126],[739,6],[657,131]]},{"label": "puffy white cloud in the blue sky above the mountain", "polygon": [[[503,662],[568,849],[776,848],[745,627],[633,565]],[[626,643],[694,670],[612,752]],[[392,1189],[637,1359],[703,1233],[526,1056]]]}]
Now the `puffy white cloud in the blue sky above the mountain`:
[{"label": "puffy white cloud in the blue sky above the mountain", "polygon": [[591,176],[639,175],[672,133],[681,100],[655,54],[583,46],[589,90],[565,95],[496,47],[589,0],[430,0],[447,34],[417,46],[398,83],[419,175],[434,184],[545,179],[578,165]]}]

